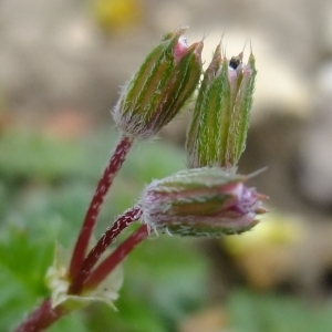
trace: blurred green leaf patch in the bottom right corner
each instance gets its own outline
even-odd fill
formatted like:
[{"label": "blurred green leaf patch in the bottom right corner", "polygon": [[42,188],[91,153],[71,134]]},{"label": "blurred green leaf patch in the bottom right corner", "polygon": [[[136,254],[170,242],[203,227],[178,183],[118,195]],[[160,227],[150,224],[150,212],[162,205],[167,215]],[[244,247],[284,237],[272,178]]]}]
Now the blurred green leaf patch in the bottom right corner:
[{"label": "blurred green leaf patch in the bottom right corner", "polygon": [[310,305],[272,292],[234,291],[228,310],[238,332],[329,332],[332,326],[330,303]]}]

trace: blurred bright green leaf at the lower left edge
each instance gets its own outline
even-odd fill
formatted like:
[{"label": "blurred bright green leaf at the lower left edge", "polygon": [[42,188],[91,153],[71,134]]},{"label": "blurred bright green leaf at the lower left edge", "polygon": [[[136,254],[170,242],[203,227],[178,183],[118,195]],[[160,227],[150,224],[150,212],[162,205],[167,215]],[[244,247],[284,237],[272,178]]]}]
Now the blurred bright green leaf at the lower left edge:
[{"label": "blurred bright green leaf at the lower left edge", "polygon": [[32,310],[39,298],[45,297],[43,277],[52,246],[44,239],[31,237],[27,228],[1,228],[0,239],[0,331]]}]

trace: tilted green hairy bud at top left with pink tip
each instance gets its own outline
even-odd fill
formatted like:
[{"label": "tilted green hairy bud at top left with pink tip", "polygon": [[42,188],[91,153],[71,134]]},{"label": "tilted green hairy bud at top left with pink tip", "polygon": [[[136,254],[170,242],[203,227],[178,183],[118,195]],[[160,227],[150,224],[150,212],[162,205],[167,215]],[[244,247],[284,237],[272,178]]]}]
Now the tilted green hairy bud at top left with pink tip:
[{"label": "tilted green hairy bud at top left with pink tip", "polygon": [[201,74],[203,42],[188,46],[184,32],[166,34],[123,89],[113,116],[126,135],[156,135],[195,91]]}]

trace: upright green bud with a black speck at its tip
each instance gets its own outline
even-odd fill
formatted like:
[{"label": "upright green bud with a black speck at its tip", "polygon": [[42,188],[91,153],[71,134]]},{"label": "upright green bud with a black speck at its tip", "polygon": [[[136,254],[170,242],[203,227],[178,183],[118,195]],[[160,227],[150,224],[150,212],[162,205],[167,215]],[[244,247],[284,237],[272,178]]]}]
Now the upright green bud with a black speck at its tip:
[{"label": "upright green bud with a black speck at its tip", "polygon": [[255,58],[227,60],[217,46],[205,71],[187,132],[189,167],[231,170],[245,149],[256,77]]}]

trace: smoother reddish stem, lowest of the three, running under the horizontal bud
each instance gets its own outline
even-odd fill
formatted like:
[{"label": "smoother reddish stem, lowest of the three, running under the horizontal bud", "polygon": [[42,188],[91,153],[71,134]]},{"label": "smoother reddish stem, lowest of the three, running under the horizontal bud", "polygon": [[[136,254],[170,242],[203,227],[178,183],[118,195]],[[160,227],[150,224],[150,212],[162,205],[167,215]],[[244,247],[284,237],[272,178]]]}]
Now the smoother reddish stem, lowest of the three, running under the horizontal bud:
[{"label": "smoother reddish stem, lowest of the three, running under the horizontal bud", "polygon": [[122,242],[90,276],[85,282],[86,289],[96,288],[111,272],[122,262],[127,255],[146,237],[148,229],[146,225],[142,225],[134,234],[132,234],[124,242]]}]

